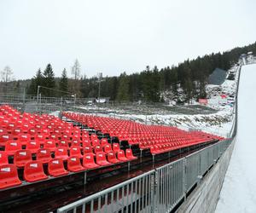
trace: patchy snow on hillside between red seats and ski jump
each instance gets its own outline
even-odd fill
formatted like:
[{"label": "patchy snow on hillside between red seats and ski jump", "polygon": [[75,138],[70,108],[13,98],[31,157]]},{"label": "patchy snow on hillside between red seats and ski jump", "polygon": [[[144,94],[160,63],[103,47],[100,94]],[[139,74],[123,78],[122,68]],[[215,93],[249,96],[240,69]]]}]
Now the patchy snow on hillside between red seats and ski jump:
[{"label": "patchy snow on hillside between red seats and ski jump", "polygon": [[[238,80],[239,66],[230,69],[235,75],[235,80],[226,79],[220,86],[207,85],[208,105],[206,109],[199,106],[198,102],[193,102],[193,106],[199,106],[197,112],[189,111],[189,106],[174,106],[173,110],[151,109],[147,106],[117,107],[80,107],[88,112],[95,112],[99,116],[109,116],[113,118],[123,118],[134,120],[143,124],[162,124],[177,126],[183,130],[203,130],[214,135],[224,137],[230,136],[230,130],[234,121],[234,103],[236,96],[236,85]],[[226,95],[226,98],[221,98]],[[142,109],[143,108],[143,109]],[[212,112],[211,112],[212,108]],[[205,112],[203,112],[205,111]]]}]

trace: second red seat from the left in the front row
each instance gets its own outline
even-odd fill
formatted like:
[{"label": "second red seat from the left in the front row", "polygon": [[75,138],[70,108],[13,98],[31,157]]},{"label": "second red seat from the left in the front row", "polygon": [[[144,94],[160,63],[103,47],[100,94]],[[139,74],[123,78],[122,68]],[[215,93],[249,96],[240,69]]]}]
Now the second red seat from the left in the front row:
[{"label": "second red seat from the left in the front row", "polygon": [[43,164],[39,160],[34,160],[25,164],[24,179],[28,182],[43,181],[48,176],[44,174]]}]

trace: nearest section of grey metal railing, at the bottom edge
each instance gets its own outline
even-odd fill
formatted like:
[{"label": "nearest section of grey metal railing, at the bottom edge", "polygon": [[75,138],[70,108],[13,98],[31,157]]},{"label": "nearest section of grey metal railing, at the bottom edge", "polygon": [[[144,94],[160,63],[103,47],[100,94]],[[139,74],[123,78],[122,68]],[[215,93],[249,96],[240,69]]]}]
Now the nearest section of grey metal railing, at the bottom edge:
[{"label": "nearest section of grey metal railing, at the bottom edge", "polygon": [[151,212],[154,170],[61,207],[57,212]]}]

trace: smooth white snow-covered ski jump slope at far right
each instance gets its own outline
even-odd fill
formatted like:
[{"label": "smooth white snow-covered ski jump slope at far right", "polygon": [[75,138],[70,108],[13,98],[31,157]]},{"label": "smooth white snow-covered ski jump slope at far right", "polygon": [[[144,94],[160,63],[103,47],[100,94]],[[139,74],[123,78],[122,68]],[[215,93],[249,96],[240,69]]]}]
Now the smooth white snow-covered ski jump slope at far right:
[{"label": "smooth white snow-covered ski jump slope at far right", "polygon": [[256,64],[243,66],[238,91],[237,140],[216,213],[256,212]]}]

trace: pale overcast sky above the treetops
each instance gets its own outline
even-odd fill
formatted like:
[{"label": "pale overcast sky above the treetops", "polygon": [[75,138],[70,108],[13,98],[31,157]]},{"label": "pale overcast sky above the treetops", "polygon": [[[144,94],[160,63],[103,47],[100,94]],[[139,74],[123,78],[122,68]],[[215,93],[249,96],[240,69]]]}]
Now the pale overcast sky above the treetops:
[{"label": "pale overcast sky above the treetops", "polygon": [[78,58],[91,77],[177,65],[256,41],[255,0],[1,0],[0,70],[32,78]]}]

